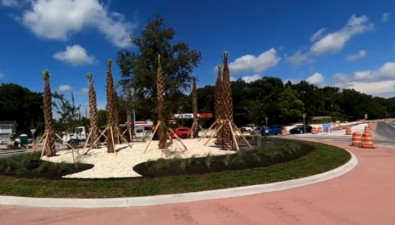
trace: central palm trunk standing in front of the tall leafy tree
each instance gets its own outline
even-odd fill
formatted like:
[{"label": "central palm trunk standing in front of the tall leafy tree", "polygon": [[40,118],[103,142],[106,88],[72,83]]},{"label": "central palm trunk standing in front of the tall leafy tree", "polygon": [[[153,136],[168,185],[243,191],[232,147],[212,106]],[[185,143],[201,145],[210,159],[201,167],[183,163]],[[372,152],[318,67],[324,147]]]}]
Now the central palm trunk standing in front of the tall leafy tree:
[{"label": "central palm trunk standing in front of the tall leafy tree", "polygon": [[159,149],[166,148],[166,140],[167,140],[167,128],[164,117],[165,110],[165,79],[163,77],[162,66],[160,64],[160,55],[158,55],[158,69],[156,75],[156,96],[158,101],[158,138],[159,138]]}]

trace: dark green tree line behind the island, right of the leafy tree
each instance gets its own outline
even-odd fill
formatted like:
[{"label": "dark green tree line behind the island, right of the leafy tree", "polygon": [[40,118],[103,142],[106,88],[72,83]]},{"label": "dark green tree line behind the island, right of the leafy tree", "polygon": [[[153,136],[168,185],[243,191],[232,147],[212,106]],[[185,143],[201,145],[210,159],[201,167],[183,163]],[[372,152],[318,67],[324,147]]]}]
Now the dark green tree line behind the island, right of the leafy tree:
[{"label": "dark green tree line behind the island, right of the leafy tree", "polygon": [[[395,97],[385,99],[372,97],[354,89],[317,87],[306,81],[283,83],[275,77],[264,77],[246,83],[239,79],[232,82],[235,123],[264,125],[265,117],[270,124],[292,124],[313,117],[330,116],[331,121],[379,119],[395,116]],[[213,112],[214,87],[198,89],[200,112]],[[320,121],[318,121],[320,122]]]}]

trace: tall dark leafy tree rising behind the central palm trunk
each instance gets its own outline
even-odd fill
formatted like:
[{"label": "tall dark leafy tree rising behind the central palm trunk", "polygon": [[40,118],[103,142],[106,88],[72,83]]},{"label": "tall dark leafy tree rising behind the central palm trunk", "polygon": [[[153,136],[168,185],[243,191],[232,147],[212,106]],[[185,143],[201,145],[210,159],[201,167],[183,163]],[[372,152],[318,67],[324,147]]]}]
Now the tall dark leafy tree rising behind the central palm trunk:
[{"label": "tall dark leafy tree rising behind the central palm trunk", "polygon": [[[169,102],[177,100],[179,94],[190,87],[192,81],[190,73],[201,59],[199,51],[191,50],[188,44],[175,42],[174,39],[175,30],[165,26],[162,16],[155,16],[144,27],[140,37],[131,37],[136,51],[118,52],[117,63],[122,75],[121,85],[133,88],[136,111],[144,111],[145,115],[151,115],[153,119],[157,119],[155,113],[157,87],[154,82],[158,69],[157,56],[161,55],[165,94]],[[171,109],[171,107],[165,108]]]}]

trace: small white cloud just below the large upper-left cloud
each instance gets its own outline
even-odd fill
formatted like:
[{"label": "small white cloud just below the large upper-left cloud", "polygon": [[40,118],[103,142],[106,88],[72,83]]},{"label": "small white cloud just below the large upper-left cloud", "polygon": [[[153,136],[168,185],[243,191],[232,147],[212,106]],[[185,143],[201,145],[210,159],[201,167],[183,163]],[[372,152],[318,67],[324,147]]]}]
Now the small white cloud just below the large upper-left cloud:
[{"label": "small white cloud just below the large upper-left cloud", "polygon": [[67,46],[66,51],[57,52],[53,57],[57,60],[71,63],[74,66],[91,64],[95,61],[95,57],[89,56],[86,50],[79,45]]}]

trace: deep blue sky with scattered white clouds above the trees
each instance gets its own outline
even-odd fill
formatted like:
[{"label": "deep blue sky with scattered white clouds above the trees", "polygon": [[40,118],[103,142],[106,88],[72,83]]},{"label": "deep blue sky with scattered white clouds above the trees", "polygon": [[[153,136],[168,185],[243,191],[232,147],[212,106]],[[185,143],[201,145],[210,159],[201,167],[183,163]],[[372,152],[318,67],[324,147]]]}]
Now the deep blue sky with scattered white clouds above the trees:
[{"label": "deep blue sky with scattered white clouds above the trees", "polygon": [[[86,73],[105,106],[106,60],[136,50],[155,14],[176,30],[175,41],[202,53],[199,86],[213,84],[220,54],[230,54],[233,79],[263,76],[307,80],[395,96],[395,2],[371,0],[0,0],[0,83],[51,87],[88,104]],[[120,79],[114,63],[115,81]]]}]

